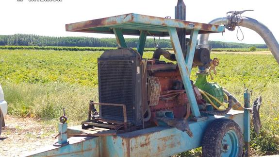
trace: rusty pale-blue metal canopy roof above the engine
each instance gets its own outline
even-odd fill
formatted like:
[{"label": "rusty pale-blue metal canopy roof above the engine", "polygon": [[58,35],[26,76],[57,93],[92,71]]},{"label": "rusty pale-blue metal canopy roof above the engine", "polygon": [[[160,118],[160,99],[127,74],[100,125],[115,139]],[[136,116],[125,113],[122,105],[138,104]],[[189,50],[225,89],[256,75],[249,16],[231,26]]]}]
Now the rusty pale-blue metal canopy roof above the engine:
[{"label": "rusty pale-blue metal canopy roof above the engine", "polygon": [[168,27],[184,28],[186,35],[190,35],[191,30],[199,30],[199,34],[225,32],[224,26],[134,13],[66,24],[66,31],[114,34],[113,28],[120,28],[123,35],[139,35],[140,31],[148,31],[148,35],[169,36]]}]

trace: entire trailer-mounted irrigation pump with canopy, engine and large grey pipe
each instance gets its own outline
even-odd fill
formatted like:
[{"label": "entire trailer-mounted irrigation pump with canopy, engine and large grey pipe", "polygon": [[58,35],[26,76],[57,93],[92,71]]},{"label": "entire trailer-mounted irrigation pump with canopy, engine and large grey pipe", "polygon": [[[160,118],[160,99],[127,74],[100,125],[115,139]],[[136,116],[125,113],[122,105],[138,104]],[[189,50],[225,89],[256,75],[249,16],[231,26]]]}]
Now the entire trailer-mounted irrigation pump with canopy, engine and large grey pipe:
[{"label": "entire trailer-mounted irrigation pump with canopy, engine and large grey pipe", "polygon": [[[251,107],[246,87],[240,103],[208,81],[219,65],[210,56],[208,36],[250,28],[263,36],[279,62],[278,43],[263,24],[240,17],[243,12],[205,24],[186,21],[185,9],[178,0],[176,19],[131,13],[66,24],[70,32],[114,34],[119,47],[98,58],[99,97],[89,103],[88,119],[66,128],[68,138],[59,137],[62,146],[32,156],[169,157],[200,146],[203,157],[248,156],[250,115],[259,133],[262,99]],[[139,36],[136,50],[127,48],[123,35]],[[147,36],[169,36],[174,53],[158,48],[152,58],[143,58]],[[64,133],[65,123],[59,125]]]}]

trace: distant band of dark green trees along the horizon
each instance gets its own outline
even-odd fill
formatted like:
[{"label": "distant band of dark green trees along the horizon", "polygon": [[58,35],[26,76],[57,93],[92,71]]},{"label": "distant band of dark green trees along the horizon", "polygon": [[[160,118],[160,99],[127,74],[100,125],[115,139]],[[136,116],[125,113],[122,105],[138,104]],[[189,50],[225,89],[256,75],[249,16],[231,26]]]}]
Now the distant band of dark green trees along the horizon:
[{"label": "distant band of dark green trees along the horizon", "polygon": [[[127,46],[137,47],[138,38],[125,38]],[[171,48],[169,39],[156,39],[161,48]],[[54,37],[41,35],[0,35],[0,45],[11,46],[67,46],[67,47],[117,47],[115,38],[95,38],[95,37]],[[213,49],[216,48],[267,48],[265,44],[243,44],[229,43],[222,41],[210,41]],[[155,47],[153,38],[148,38],[145,44],[146,48]]]}]

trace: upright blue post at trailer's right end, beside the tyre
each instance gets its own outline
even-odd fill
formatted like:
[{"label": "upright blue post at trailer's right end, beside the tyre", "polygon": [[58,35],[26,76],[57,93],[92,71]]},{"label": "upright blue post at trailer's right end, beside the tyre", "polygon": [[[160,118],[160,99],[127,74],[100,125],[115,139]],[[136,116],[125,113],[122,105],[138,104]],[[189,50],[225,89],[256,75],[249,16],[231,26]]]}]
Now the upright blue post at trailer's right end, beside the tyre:
[{"label": "upright blue post at trailer's right end, beside the tyre", "polygon": [[245,157],[249,157],[249,147],[250,147],[250,94],[248,89],[244,92],[244,148]]}]

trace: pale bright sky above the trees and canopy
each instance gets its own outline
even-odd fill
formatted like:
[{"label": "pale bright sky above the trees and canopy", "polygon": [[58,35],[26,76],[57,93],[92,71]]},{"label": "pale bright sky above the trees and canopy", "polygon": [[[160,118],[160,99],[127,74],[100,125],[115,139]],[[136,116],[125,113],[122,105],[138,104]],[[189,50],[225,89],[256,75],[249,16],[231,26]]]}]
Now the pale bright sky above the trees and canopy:
[{"label": "pale bright sky above the trees and canopy", "polygon": [[[225,17],[231,10],[253,9],[243,16],[265,24],[279,39],[279,13],[276,0],[184,0],[186,20],[207,23]],[[62,0],[17,1],[0,0],[0,35],[35,34],[48,36],[114,37],[114,35],[73,33],[65,31],[66,23],[109,17],[127,13],[174,18],[177,0]],[[244,40],[238,41],[236,31],[210,35],[210,40],[242,43],[264,43],[255,32],[242,28]],[[132,37],[132,36],[128,36]]]}]

